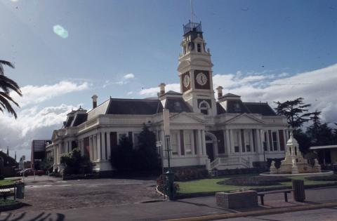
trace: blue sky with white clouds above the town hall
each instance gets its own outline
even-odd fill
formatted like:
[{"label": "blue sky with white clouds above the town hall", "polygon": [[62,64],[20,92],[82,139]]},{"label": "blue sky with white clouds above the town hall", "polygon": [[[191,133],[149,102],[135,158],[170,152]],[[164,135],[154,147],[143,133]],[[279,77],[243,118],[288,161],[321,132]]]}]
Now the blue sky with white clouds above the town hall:
[{"label": "blue sky with white clouds above the town hall", "polygon": [[[337,1],[194,0],[193,4],[194,20],[201,20],[211,49],[214,83],[240,93],[244,100],[291,99],[305,88],[296,87],[293,96],[283,94],[284,88],[281,95],[270,96],[265,88],[278,81],[291,85],[291,77],[303,73],[323,70],[322,77],[337,69],[333,66]],[[94,93],[103,102],[110,95],[152,96],[161,82],[177,88],[182,26],[189,19],[189,0],[0,0],[0,59],[15,63],[15,69],[6,68],[5,74],[26,93],[19,100],[24,104],[19,119],[8,126],[11,133],[20,133],[20,139],[2,133],[0,147],[10,145],[13,151],[28,154],[29,142],[50,138],[72,106],[90,109]],[[69,36],[55,34],[55,25],[67,29]],[[331,66],[333,70],[326,71]],[[308,78],[302,81],[308,87],[325,87]],[[315,107],[326,106],[315,95],[303,95]],[[334,108],[326,113],[336,112]],[[46,119],[36,123],[39,114]],[[324,115],[327,121],[334,117]],[[0,121],[10,122],[9,116],[0,114]]]}]

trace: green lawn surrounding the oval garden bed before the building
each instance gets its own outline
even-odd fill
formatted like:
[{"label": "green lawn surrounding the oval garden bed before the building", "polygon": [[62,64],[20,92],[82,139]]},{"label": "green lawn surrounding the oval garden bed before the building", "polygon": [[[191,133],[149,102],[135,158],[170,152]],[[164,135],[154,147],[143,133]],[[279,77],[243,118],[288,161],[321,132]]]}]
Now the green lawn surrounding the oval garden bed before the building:
[{"label": "green lawn surrounding the oval garden bed before the building", "polygon": [[[230,186],[230,185],[218,185],[217,182],[222,180],[227,180],[231,177],[226,178],[214,178],[214,179],[204,179],[204,180],[192,180],[187,182],[176,182],[179,185],[178,194],[194,194],[194,193],[204,193],[204,192],[230,192],[239,189],[256,189],[256,188],[275,188],[275,187],[291,187],[291,182],[281,182],[281,185],[272,186]],[[331,184],[336,181],[312,181],[305,180],[304,176],[289,177],[296,180],[304,180],[305,185],[322,185]]]}]

